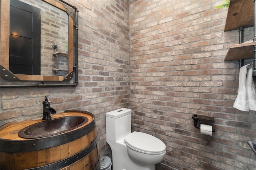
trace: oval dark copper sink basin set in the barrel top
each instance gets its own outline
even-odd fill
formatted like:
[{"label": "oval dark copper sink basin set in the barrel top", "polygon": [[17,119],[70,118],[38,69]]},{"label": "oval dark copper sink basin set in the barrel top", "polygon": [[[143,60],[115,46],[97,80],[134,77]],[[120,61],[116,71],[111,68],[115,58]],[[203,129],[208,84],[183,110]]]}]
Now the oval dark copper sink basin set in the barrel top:
[{"label": "oval dark copper sink basin set in the barrel top", "polygon": [[68,132],[88,122],[87,117],[66,116],[35,123],[18,132],[22,138],[42,138]]}]

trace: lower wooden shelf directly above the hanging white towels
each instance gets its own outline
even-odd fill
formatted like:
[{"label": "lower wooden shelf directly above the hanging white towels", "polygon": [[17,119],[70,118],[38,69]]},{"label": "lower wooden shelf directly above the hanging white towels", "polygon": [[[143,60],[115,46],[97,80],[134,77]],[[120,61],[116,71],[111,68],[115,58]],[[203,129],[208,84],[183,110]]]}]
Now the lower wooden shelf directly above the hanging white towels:
[{"label": "lower wooden shelf directly above the hanging white towels", "polygon": [[256,42],[230,45],[224,61],[253,58],[254,53],[252,49],[254,45],[256,45]]}]

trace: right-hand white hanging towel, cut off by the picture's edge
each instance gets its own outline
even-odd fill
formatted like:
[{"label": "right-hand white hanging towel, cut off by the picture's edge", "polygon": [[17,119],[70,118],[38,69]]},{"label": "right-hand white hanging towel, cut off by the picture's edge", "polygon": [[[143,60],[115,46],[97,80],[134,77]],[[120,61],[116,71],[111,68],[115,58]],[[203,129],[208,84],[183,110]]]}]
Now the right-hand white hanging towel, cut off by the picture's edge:
[{"label": "right-hand white hanging towel, cut off by the picture's edge", "polygon": [[256,90],[254,81],[252,79],[252,68],[247,70],[246,83],[248,91],[249,109],[251,111],[256,111]]}]

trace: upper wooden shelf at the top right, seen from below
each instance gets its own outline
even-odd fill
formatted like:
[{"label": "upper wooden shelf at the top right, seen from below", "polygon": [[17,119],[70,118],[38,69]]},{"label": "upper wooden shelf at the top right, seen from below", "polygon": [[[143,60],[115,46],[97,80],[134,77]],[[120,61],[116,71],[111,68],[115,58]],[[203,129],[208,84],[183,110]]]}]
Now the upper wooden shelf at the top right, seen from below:
[{"label": "upper wooden shelf at the top right, seen from below", "polygon": [[224,31],[248,28],[254,24],[254,2],[252,0],[230,0]]}]

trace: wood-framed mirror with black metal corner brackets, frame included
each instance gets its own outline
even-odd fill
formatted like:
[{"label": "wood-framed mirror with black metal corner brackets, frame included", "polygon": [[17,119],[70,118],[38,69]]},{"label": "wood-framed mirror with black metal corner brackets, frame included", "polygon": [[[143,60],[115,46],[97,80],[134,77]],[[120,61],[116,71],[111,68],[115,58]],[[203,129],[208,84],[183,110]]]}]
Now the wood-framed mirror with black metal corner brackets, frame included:
[{"label": "wood-framed mirror with black metal corner brackets, frame included", "polygon": [[63,0],[1,0],[0,11],[1,77],[21,81],[73,78],[78,30],[74,6]]}]

